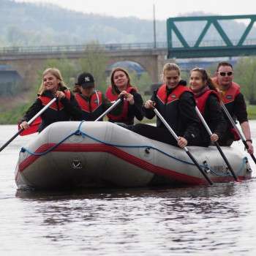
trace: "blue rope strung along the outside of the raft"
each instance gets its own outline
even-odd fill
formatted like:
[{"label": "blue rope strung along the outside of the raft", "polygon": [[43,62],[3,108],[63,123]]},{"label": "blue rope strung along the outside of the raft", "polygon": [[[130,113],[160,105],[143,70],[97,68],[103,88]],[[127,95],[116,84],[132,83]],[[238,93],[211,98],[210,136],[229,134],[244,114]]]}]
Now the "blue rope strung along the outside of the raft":
[{"label": "blue rope strung along the outside of the raft", "polygon": [[[102,143],[102,144],[105,144],[107,146],[114,146],[114,147],[118,147],[118,148],[146,148],[148,150],[149,149],[154,149],[154,150],[158,151],[159,153],[164,154],[167,157],[175,159],[178,162],[182,162],[182,163],[185,163],[187,165],[195,165],[193,162],[187,162],[185,160],[178,159],[177,157],[173,157],[172,155],[170,155],[170,154],[166,153],[165,151],[162,151],[161,149],[156,148],[154,146],[148,146],[148,145],[140,145],[140,146],[138,146],[138,145],[134,145],[134,146],[132,146],[132,145],[120,145],[120,144],[108,143],[108,142],[105,142],[104,140],[99,140],[99,139],[94,138],[93,136],[91,136],[91,135],[89,135],[86,132],[83,132],[81,130],[81,126],[82,126],[83,122],[84,122],[84,120],[80,122],[80,124],[78,126],[78,129],[75,132],[72,132],[70,135],[67,135],[67,137],[62,139],[59,143],[56,143],[56,145],[52,146],[51,148],[48,148],[48,150],[46,150],[46,151],[36,153],[36,152],[29,151],[29,149],[27,149],[27,148],[22,147],[20,149],[20,152],[22,152],[22,153],[27,152],[28,154],[31,154],[33,156],[44,156],[45,154],[48,154],[50,151],[53,151],[55,148],[57,148],[59,145],[61,145],[61,143],[64,143],[65,140],[72,137],[73,135],[80,135],[83,138],[87,137],[87,138],[90,138],[91,140],[95,140],[95,141],[97,141],[99,143]],[[244,169],[244,165],[246,165],[246,162],[248,162],[248,159],[247,159],[247,157],[244,157],[242,162],[241,162],[241,167],[239,168],[238,174],[242,172],[242,170]],[[213,170],[208,165],[200,165],[200,167],[202,167],[203,169],[207,168],[208,170],[210,170],[211,173],[213,173],[216,176],[222,176],[222,177],[232,176],[229,170],[227,170],[227,173],[217,173],[215,170]]]}]

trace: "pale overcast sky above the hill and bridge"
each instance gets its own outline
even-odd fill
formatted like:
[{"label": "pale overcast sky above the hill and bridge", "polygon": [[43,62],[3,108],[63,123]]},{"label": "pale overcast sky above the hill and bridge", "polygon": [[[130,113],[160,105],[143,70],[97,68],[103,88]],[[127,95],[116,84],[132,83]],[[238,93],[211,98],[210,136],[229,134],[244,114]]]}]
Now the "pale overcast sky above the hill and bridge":
[{"label": "pale overcast sky above the hill and bridge", "polygon": [[[0,0],[1,1],[1,0]],[[116,17],[135,16],[152,19],[153,4],[157,20],[176,17],[187,12],[218,15],[250,15],[256,11],[255,0],[15,0],[58,4],[69,10]]]}]

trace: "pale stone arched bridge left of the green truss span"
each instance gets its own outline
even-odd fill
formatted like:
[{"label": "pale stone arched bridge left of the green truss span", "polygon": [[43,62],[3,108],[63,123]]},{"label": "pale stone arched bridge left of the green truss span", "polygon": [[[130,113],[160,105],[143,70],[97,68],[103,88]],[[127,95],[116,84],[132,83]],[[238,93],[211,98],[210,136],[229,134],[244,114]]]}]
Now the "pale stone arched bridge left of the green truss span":
[{"label": "pale stone arched bridge left of the green truss span", "polygon": [[[34,86],[37,75],[45,67],[48,59],[70,59],[72,61],[81,58],[84,52],[72,51],[70,53],[23,53],[23,54],[1,54],[0,64],[8,64],[15,69],[24,80],[23,88],[29,89]],[[162,66],[165,64],[166,48],[159,49],[126,49],[106,52],[109,65],[118,61],[135,61],[148,72],[153,83],[159,82]]]}]

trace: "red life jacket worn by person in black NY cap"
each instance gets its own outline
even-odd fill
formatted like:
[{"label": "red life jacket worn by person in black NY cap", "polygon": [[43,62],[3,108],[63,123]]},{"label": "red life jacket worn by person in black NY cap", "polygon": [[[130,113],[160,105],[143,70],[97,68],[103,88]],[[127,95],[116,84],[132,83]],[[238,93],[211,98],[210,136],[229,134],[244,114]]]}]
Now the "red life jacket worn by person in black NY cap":
[{"label": "red life jacket worn by person in black NY cap", "polygon": [[80,94],[75,94],[75,99],[77,100],[80,108],[83,111],[87,113],[93,113],[95,110],[97,110],[97,108],[102,105],[102,92],[97,91],[97,94],[96,92],[94,92],[94,94],[91,95],[90,102],[88,102],[86,99],[83,99]]}]

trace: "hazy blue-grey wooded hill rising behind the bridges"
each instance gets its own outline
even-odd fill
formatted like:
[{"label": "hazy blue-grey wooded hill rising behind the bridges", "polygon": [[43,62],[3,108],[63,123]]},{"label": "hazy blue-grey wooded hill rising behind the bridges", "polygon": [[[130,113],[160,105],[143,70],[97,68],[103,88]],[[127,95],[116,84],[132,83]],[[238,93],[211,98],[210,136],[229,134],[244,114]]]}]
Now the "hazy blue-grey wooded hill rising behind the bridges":
[{"label": "hazy blue-grey wooded hill rising behind the bridges", "polygon": [[[193,12],[187,14],[206,15]],[[0,1],[0,47],[20,45],[81,45],[99,43],[133,43],[153,41],[153,22],[139,18],[114,18],[65,10],[51,4]],[[187,41],[194,41],[203,23],[177,24]],[[225,21],[222,26],[231,39],[237,39],[246,25]],[[251,38],[256,38],[254,28]],[[210,29],[207,40],[219,39]],[[166,42],[166,20],[157,20],[157,42]]]}]

